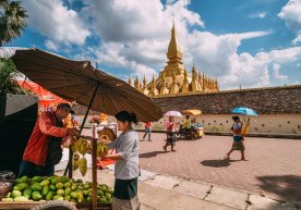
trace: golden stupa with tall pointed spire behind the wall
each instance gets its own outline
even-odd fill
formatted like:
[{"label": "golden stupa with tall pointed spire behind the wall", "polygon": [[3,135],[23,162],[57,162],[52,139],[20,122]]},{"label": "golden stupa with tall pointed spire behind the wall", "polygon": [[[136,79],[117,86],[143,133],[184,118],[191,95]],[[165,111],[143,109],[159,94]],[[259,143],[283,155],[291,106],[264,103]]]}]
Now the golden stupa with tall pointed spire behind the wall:
[{"label": "golden stupa with tall pointed spire behind the wall", "polygon": [[[205,73],[201,74],[193,64],[191,73],[185,70],[182,52],[177,42],[174,24],[171,28],[171,38],[167,51],[168,62],[165,69],[147,84],[145,76],[142,83],[136,76],[134,87],[146,96],[159,97],[168,95],[190,95],[196,92],[219,91],[218,82]],[[131,78],[129,84],[132,85]]]}]

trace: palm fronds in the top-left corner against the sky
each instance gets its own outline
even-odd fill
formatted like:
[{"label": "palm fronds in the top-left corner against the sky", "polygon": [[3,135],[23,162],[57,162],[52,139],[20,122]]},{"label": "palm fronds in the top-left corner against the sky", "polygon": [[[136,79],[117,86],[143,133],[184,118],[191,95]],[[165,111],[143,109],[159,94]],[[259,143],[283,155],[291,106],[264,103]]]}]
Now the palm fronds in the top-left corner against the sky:
[{"label": "palm fronds in the top-left corner against the sky", "polygon": [[21,1],[0,0],[0,46],[21,36],[27,16]]}]

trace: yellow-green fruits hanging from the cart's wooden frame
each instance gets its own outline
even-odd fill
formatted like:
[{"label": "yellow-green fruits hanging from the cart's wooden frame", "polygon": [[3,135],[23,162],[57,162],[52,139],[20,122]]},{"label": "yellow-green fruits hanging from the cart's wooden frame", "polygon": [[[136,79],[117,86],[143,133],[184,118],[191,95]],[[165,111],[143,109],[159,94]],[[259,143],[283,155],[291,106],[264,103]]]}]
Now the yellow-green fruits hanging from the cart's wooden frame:
[{"label": "yellow-green fruits hanging from the cart's wooden frame", "polygon": [[[87,159],[85,155],[92,152],[92,143],[85,138],[74,138],[71,148],[74,152],[72,159],[73,171],[80,169],[82,175],[85,176],[87,172]],[[97,156],[100,157],[101,153],[108,153],[108,147],[101,141],[97,141]]]}]

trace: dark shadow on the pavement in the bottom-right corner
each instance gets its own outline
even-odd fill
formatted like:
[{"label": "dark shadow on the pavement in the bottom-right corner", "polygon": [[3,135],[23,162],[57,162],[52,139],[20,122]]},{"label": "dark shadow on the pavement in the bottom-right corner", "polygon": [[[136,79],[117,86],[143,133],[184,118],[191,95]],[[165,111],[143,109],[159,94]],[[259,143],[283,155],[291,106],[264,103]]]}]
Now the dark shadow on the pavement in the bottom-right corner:
[{"label": "dark shadow on the pavement in the bottom-right corner", "polygon": [[260,187],[264,192],[275,194],[281,200],[301,199],[301,176],[257,176],[257,180],[261,181]]}]

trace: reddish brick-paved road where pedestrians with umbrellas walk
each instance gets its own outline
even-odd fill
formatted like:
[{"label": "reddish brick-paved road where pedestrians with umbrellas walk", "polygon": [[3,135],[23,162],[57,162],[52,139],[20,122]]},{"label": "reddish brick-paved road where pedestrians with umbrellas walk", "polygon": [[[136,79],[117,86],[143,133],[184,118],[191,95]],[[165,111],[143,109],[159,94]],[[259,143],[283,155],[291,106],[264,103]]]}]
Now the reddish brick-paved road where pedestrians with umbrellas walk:
[{"label": "reddish brick-paved road where pedestrians with umbrellas walk", "polygon": [[238,151],[227,161],[231,137],[179,140],[176,152],[164,152],[164,138],[152,134],[153,141],[141,141],[142,169],[301,201],[301,139],[246,138],[249,161],[239,161]]}]

